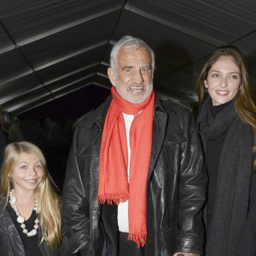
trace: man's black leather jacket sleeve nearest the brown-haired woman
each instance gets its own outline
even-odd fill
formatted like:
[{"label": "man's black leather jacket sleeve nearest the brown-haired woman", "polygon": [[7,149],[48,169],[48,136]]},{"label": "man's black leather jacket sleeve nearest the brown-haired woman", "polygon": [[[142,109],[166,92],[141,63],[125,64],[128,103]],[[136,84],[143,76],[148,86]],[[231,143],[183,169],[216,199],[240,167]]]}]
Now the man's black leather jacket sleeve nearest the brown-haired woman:
[{"label": "man's black leather jacket sleeve nearest the brown-haired woman", "polygon": [[185,114],[179,183],[179,232],[176,252],[203,254],[203,206],[207,195],[204,154],[192,113]]}]

